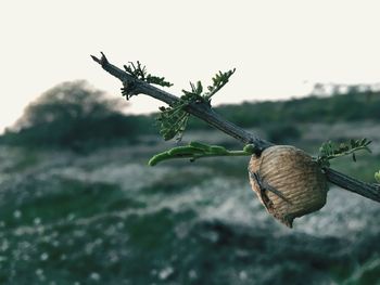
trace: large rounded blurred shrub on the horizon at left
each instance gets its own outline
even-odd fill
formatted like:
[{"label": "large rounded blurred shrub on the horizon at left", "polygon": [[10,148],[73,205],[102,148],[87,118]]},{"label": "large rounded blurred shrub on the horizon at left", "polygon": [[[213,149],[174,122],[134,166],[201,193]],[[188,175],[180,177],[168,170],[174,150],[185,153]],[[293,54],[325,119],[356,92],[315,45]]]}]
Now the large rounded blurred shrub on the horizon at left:
[{"label": "large rounded blurred shrub on the horizon at left", "polygon": [[115,141],[134,142],[151,131],[141,116],[125,116],[123,99],[111,100],[85,81],[65,82],[30,103],[1,142],[15,145],[93,148]]}]

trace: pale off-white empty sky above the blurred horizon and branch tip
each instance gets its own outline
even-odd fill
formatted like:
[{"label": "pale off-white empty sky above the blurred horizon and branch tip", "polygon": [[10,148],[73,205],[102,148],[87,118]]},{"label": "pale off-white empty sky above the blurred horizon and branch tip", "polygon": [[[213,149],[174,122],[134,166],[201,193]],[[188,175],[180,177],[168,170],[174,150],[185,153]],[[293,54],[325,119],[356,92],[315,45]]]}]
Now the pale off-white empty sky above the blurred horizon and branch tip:
[{"label": "pale off-white empty sky above the blurred horizon and branch tip", "polygon": [[[175,83],[237,67],[214,103],[305,95],[314,82],[380,81],[380,2],[339,0],[0,1],[0,131],[51,87],[86,79],[119,95],[90,59],[139,60]],[[156,109],[134,98],[129,112]]]}]

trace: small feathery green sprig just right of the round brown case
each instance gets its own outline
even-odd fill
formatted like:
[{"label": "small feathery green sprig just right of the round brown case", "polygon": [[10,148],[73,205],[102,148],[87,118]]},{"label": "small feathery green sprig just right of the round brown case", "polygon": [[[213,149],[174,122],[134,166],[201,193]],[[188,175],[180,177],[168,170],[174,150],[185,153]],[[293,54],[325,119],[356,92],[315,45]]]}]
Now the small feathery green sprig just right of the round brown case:
[{"label": "small feathery green sprig just right of the round brown case", "polygon": [[329,160],[346,155],[352,155],[353,160],[356,161],[355,152],[364,150],[370,153],[368,147],[371,141],[367,139],[350,140],[347,143],[339,144],[331,141],[325,142],[319,148],[317,161],[321,166],[328,167],[330,166]]}]

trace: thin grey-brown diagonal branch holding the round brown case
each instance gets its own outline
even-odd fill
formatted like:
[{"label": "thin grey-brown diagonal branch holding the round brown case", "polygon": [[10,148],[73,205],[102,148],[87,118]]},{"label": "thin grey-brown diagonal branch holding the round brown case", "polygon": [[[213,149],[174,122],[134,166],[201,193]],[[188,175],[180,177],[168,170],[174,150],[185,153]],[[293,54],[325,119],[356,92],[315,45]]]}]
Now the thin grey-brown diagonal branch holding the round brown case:
[{"label": "thin grey-brown diagonal branch holding the round brown case", "polygon": [[[172,95],[170,93],[163,91],[159,88],[155,88],[144,81],[138,80],[131,77],[126,72],[111,64],[105,55],[101,53],[101,59],[98,59],[91,55],[92,60],[99,63],[104,70],[110,73],[112,76],[118,78],[125,88],[128,89],[128,92],[131,94],[145,94],[152,96],[156,100],[165,102],[168,105],[174,104],[178,101],[178,98]],[[242,143],[252,143],[257,148],[257,154],[259,154],[265,148],[274,145],[270,142],[267,142],[256,134],[250,133],[244,129],[236,126],[235,124],[224,119],[217,113],[215,113],[210,105],[204,103],[193,103],[186,107],[186,111],[191,115],[206,121],[208,125],[215,127],[216,129],[231,135]],[[324,168],[327,180],[331,183],[351,191],[353,193],[359,194],[369,199],[380,202],[380,186],[379,184],[371,184],[359,181],[352,177],[345,176],[339,171],[335,171],[331,168]]]}]

